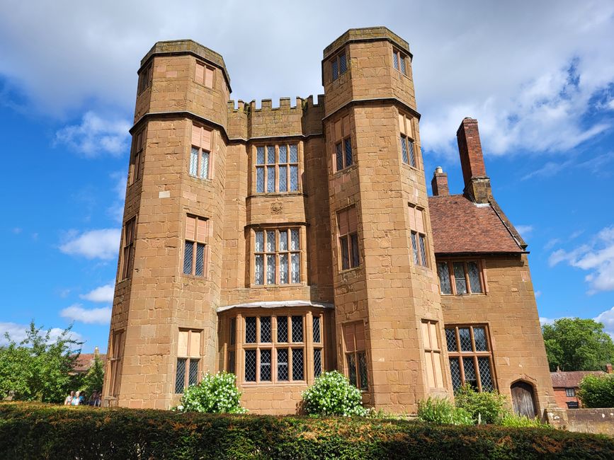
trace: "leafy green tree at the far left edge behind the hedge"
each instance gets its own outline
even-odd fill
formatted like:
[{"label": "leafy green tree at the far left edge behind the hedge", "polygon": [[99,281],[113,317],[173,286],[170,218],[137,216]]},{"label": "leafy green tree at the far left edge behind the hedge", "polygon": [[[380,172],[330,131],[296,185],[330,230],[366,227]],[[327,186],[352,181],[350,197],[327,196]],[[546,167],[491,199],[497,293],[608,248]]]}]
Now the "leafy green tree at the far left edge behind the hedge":
[{"label": "leafy green tree at the far left edge behind the hedge", "polygon": [[82,345],[71,338],[71,328],[52,340],[51,329],[43,332],[32,321],[20,343],[6,333],[8,345],[0,348],[0,398],[13,391],[17,400],[64,401],[74,381],[69,372]]}]

